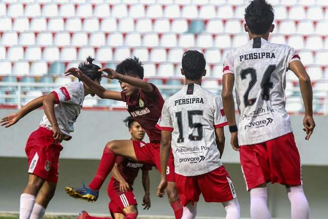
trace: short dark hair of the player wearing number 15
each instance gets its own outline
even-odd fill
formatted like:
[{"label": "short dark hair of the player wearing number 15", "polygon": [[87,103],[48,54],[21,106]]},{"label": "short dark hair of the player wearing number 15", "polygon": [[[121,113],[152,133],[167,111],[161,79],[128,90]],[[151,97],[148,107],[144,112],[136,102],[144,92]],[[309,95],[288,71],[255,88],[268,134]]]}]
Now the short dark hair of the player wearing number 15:
[{"label": "short dark hair of the player wearing number 15", "polygon": [[182,56],[182,69],[189,80],[199,79],[205,70],[206,61],[203,53],[197,50],[188,50]]}]

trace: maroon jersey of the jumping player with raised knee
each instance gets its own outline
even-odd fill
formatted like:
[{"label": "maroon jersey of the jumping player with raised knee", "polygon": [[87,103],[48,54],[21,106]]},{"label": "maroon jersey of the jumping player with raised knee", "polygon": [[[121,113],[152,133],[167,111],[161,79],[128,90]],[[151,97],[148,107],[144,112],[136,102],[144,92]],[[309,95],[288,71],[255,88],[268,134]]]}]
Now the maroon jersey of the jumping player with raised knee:
[{"label": "maroon jersey of the jumping player with raised knee", "polygon": [[151,84],[152,92],[145,92],[140,89],[136,96],[126,96],[122,91],[122,100],[127,103],[127,109],[133,117],[146,131],[151,143],[160,143],[160,130],[155,126],[161,115],[164,99],[158,88]]}]

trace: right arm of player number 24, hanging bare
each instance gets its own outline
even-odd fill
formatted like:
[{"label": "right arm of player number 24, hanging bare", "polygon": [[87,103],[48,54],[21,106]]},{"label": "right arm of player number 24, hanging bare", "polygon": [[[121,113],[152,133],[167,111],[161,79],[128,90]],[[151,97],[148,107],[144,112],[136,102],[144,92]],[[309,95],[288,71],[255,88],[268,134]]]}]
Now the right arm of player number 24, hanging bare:
[{"label": "right arm of player number 24, hanging bare", "polygon": [[306,132],[305,139],[309,140],[315,127],[315,123],[313,120],[313,111],[312,111],[313,92],[312,92],[311,80],[303,64],[299,60],[295,60],[291,62],[289,64],[289,69],[292,72],[294,72],[294,74],[298,77],[299,80],[301,94],[302,94],[304,108],[305,108],[303,130]]}]

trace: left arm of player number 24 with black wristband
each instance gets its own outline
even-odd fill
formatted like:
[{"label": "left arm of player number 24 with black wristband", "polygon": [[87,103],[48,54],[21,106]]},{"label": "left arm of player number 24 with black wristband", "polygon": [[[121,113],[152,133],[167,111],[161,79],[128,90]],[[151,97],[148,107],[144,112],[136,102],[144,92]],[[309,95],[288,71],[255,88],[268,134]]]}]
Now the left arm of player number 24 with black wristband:
[{"label": "left arm of player number 24 with black wristband", "polygon": [[[223,75],[222,103],[229,127],[236,126],[235,101],[234,95],[232,93],[234,89],[234,83],[234,74],[227,73]],[[230,144],[234,150],[239,150],[238,131],[231,132]]]}]

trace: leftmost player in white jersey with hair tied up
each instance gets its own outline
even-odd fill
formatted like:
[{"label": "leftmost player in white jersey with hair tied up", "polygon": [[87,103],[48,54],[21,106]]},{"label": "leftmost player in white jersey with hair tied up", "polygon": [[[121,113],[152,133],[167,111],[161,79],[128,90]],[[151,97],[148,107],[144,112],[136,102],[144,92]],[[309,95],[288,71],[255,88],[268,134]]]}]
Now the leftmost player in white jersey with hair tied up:
[{"label": "leftmost player in white jersey with hair tied up", "polygon": [[[100,67],[92,64],[92,61],[89,57],[87,63],[79,65],[79,69],[85,77],[100,84]],[[72,82],[32,100],[18,113],[2,119],[1,125],[8,128],[34,109],[40,106],[44,108],[39,128],[29,136],[25,147],[29,180],[20,197],[20,219],[43,217],[58,182],[59,155],[63,149],[61,142],[71,139],[73,124],[88,94],[95,95],[83,82]]]}]

